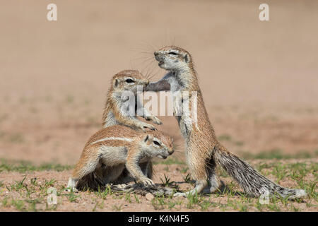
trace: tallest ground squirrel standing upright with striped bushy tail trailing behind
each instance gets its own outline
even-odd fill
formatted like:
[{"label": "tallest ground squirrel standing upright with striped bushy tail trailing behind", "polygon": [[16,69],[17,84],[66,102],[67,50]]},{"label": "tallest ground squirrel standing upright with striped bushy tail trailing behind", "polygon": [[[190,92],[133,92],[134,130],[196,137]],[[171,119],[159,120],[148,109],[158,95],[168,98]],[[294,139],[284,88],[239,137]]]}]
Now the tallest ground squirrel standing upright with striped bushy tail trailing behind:
[{"label": "tallest ground squirrel standing upright with striped bushy tail trailing behind", "polygon": [[[254,196],[269,196],[275,193],[283,197],[299,198],[306,196],[304,190],[287,189],[271,182],[247,162],[230,153],[216,138],[213,127],[208,119],[204,100],[199,88],[192,56],[185,49],[170,46],[156,51],[155,59],[162,69],[169,71],[160,81],[150,83],[147,90],[159,91],[169,83],[172,92],[196,91],[197,112],[196,123],[189,115],[176,116],[182,136],[186,141],[186,161],[196,186],[187,193],[175,194],[185,196],[189,193],[201,192],[208,187],[209,192],[218,189],[220,181],[216,175],[216,165],[225,169],[232,178],[245,190]],[[174,103],[175,105],[175,103]],[[189,108],[192,107],[192,98],[189,98]],[[207,190],[207,189],[206,189]]]}]

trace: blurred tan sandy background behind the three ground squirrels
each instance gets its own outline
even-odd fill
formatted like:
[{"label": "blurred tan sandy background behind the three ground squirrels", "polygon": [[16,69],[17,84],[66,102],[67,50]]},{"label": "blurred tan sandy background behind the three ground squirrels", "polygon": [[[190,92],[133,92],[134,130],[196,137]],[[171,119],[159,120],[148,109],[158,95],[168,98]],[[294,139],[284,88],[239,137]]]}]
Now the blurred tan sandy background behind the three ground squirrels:
[{"label": "blurred tan sandy background behind the three ground squirrels", "polygon": [[[49,22],[47,1],[1,1],[0,158],[75,164],[100,128],[110,78],[123,69],[160,78],[152,56],[164,44],[192,53],[209,117],[233,153],[317,152],[317,1],[267,1],[266,22],[260,1],[54,3]],[[183,152],[175,119],[160,119]]]}]

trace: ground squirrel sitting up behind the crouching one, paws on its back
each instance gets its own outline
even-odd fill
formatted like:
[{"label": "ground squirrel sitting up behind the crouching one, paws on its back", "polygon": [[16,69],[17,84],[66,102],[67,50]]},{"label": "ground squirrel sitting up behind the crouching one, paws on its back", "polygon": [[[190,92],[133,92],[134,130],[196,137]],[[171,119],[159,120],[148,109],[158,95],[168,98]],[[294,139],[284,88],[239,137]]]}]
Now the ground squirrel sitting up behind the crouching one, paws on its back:
[{"label": "ground squirrel sitting up behind the crouching one, paws on its back", "polygon": [[[142,88],[141,92],[146,88],[149,81],[139,71],[124,70],[120,71],[112,77],[112,85],[107,93],[107,100],[105,103],[104,113],[102,114],[102,127],[114,126],[116,124],[123,124],[132,129],[152,129],[155,126],[139,121],[136,114],[140,115],[146,120],[151,120],[155,124],[162,124],[160,119],[151,115],[142,105],[139,100],[137,92],[138,88]],[[129,99],[125,92],[131,92],[135,98],[134,115],[128,114]]]}]

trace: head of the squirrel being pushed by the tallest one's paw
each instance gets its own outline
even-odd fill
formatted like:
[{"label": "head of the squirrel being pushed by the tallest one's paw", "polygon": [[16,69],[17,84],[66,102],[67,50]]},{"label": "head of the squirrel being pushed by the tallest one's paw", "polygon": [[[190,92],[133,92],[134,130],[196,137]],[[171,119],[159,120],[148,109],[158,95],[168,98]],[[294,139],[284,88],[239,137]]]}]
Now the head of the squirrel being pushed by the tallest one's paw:
[{"label": "head of the squirrel being pushed by the tallest one's paw", "polygon": [[131,91],[136,94],[138,88],[144,90],[148,84],[149,80],[136,70],[120,71],[112,77],[112,89],[115,91]]}]

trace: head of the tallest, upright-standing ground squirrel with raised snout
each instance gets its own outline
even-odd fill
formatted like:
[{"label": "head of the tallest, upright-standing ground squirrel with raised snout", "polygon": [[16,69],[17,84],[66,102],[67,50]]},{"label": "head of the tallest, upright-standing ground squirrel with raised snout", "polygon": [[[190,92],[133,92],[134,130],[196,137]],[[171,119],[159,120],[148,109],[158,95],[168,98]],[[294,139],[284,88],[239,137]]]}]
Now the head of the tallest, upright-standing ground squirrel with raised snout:
[{"label": "head of the tallest, upright-standing ground squirrel with raised snout", "polygon": [[191,54],[180,47],[162,47],[154,54],[160,68],[167,71],[184,71],[193,67]]}]

